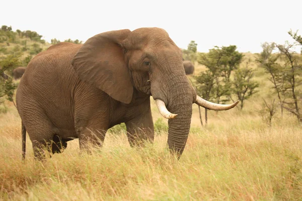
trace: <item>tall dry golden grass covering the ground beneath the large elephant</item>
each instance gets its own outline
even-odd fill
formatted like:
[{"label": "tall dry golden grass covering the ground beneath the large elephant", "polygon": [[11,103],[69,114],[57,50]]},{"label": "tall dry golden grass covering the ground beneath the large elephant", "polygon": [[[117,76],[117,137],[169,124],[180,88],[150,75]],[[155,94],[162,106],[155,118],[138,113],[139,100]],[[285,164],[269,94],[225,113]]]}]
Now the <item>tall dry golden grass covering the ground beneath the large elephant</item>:
[{"label": "tall dry golden grass covering the ground beneath the large elephant", "polygon": [[[261,69],[257,69],[256,73]],[[243,111],[209,112],[192,127],[181,159],[172,158],[167,134],[143,149],[130,148],[122,134],[108,134],[102,150],[79,152],[78,140],[62,154],[35,161],[31,142],[21,161],[21,125],[10,105],[0,114],[0,199],[4,200],[299,200],[302,197],[301,125],[277,114],[269,128],[259,116],[261,91]],[[260,102],[259,102],[260,100]],[[160,117],[152,102],[154,120]],[[203,110],[202,110],[203,112]]]}]

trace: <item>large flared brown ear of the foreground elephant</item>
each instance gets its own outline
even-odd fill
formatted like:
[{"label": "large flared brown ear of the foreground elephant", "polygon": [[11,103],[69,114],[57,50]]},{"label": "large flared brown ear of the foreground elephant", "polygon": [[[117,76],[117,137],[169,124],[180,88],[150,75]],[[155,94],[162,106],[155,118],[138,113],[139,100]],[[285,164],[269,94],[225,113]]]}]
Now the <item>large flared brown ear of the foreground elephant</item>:
[{"label": "large flared brown ear of the foreground elephant", "polygon": [[121,42],[130,30],[101,33],[88,39],[73,57],[71,65],[81,80],[129,104],[133,85]]}]

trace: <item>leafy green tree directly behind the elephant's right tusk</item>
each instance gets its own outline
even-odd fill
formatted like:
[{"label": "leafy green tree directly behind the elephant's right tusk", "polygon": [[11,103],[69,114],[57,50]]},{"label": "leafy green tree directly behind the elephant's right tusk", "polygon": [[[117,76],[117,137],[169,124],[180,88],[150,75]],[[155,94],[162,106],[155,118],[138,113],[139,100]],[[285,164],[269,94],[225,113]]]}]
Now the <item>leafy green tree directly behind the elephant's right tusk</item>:
[{"label": "leafy green tree directly behind the elephant's right tusk", "polygon": [[[236,46],[217,47],[210,49],[209,53],[200,53],[198,63],[207,70],[201,72],[196,79],[198,95],[216,103],[225,103],[230,100],[230,75],[238,68],[243,54],[236,51]],[[207,109],[205,109],[205,124],[207,124]]]}]

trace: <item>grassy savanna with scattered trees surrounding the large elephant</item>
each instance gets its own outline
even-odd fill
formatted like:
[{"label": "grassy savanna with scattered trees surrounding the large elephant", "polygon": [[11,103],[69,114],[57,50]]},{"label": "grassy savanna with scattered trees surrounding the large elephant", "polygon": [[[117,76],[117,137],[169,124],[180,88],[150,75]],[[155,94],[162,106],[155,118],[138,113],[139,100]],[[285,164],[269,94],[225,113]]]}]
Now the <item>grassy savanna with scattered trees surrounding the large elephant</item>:
[{"label": "grassy savanna with scattered trees surrounding the large elephant", "polygon": [[[8,30],[13,32],[6,26],[0,36]],[[6,72],[31,56],[30,50],[16,54],[13,49],[17,45],[21,50],[22,43],[29,49],[34,43],[42,50],[50,46],[38,34],[31,39],[24,32],[14,33],[19,43],[8,35],[5,42],[0,41],[0,48],[7,52],[0,55],[1,69]],[[238,52],[236,45],[200,53],[195,41],[189,43],[183,56],[195,62],[195,72],[188,79],[197,93],[215,103],[237,99],[240,103],[219,112],[194,104],[190,135],[180,160],[166,149],[167,121],[151,97],[156,132],[153,145],[130,148],[121,124],[111,128],[103,148],[90,155],[80,153],[78,140],[73,140],[62,154],[35,161],[27,140],[28,154],[22,162],[21,121],[13,103],[18,81],[0,77],[0,198],[299,200],[302,43],[298,33],[290,31],[288,37],[296,42],[264,43],[259,54]]]}]

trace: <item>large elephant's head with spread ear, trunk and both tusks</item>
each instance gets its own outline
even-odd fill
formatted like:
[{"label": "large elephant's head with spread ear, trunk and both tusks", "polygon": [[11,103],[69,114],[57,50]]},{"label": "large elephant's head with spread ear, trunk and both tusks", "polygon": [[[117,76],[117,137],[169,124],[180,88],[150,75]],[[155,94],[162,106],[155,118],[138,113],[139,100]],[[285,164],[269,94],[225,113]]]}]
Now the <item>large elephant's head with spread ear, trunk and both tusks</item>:
[{"label": "large elephant's head with spread ear, trunk and both tusks", "polygon": [[134,89],[152,95],[160,113],[169,119],[169,148],[179,156],[188,138],[193,103],[210,110],[237,105],[213,104],[197,96],[186,77],[181,49],[160,28],[93,36],[71,64],[80,79],[124,104],[131,103]]}]

